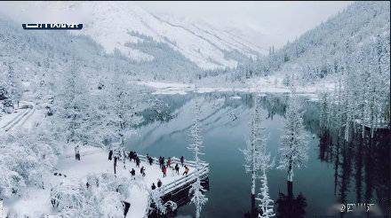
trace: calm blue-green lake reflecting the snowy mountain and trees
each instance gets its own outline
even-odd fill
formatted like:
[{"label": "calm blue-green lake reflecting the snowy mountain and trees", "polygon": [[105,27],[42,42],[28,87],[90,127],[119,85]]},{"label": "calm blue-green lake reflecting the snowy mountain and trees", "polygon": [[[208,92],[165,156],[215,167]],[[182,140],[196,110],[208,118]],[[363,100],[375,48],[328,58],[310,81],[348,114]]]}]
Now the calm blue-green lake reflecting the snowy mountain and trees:
[{"label": "calm blue-green lake reflecting the snowy mountain and trees", "polygon": [[[210,164],[211,170],[210,191],[206,193],[209,200],[203,207],[202,217],[244,217],[251,209],[251,178],[244,171],[241,150],[249,136],[251,94],[189,93],[157,97],[162,101],[160,106],[146,112],[139,135],[128,141],[129,148],[155,157],[183,155],[191,160],[192,154],[187,148],[189,128],[195,98],[198,98],[203,112],[205,154],[202,158]],[[267,94],[260,99],[268,136],[267,149],[277,162],[288,97]],[[301,193],[300,198],[306,199],[307,206],[296,204],[297,209],[305,211],[306,217],[351,217],[355,214],[340,214],[341,206],[336,204],[371,203],[375,206],[370,217],[389,214],[389,133],[362,139],[357,130],[358,133],[345,142],[339,139],[335,129],[319,128],[319,104],[313,97],[302,96],[302,102],[309,160],[307,167],[294,171],[293,199]],[[270,197],[275,202],[279,193],[287,195],[285,171],[274,168],[268,172],[267,179]],[[283,211],[283,206],[286,204],[275,204],[275,213],[278,207],[278,211]],[[194,214],[195,206],[181,206],[177,217],[193,217]],[[283,212],[277,214],[288,217]]]}]

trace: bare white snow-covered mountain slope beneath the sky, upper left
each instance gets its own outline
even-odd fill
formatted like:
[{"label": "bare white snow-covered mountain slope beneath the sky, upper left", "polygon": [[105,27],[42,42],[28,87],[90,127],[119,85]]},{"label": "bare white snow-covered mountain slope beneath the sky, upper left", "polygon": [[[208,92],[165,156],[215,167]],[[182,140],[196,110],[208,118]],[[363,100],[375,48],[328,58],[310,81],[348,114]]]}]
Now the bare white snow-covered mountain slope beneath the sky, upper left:
[{"label": "bare white snow-covered mountain slope beneath the sky, upper left", "polygon": [[90,35],[109,53],[117,49],[136,61],[156,58],[137,48],[145,37],[169,45],[202,69],[234,67],[264,54],[275,40],[251,27],[157,15],[128,2],[40,2],[21,7],[20,16],[25,13],[29,20],[83,22],[77,34]]}]

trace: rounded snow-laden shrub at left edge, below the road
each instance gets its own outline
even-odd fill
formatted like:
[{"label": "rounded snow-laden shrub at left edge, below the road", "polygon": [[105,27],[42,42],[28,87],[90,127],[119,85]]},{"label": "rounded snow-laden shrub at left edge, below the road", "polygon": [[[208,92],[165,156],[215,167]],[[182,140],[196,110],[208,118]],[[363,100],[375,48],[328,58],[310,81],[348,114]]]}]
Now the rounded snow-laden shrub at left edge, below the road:
[{"label": "rounded snow-laden shrub at left edge, below the road", "polygon": [[20,195],[20,187],[34,185],[44,187],[42,175],[52,169],[57,160],[47,144],[41,144],[35,136],[20,132],[4,134],[0,138],[1,196]]}]

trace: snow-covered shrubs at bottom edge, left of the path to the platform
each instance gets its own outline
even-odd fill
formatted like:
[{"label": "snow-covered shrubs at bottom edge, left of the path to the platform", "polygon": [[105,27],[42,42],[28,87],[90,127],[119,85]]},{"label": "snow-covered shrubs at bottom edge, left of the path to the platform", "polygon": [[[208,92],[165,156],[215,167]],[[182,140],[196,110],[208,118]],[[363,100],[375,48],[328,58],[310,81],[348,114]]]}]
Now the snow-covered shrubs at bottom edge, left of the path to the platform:
[{"label": "snow-covered shrubs at bottom edge, left of the path to the platform", "polygon": [[122,201],[131,181],[114,175],[88,175],[86,183],[62,183],[52,188],[52,206],[64,217],[124,217]]}]

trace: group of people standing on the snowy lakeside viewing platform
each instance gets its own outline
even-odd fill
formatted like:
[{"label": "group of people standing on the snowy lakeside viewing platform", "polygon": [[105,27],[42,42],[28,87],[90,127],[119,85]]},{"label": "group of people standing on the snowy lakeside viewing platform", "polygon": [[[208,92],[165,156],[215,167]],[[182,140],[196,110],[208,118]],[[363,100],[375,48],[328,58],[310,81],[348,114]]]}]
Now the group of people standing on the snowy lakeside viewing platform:
[{"label": "group of people standing on the snowy lakeside viewing platform", "polygon": [[[122,156],[121,155],[121,152],[113,152],[113,150],[110,150],[108,152],[108,160],[112,160],[113,159],[113,156],[114,156],[114,174],[116,175],[116,162],[117,160],[119,160]],[[124,159],[126,159],[126,154],[124,152]],[[134,161],[136,163],[136,167],[140,167],[140,158],[137,154],[137,152],[129,152],[127,154],[127,158],[132,162]],[[150,166],[152,166],[152,164],[154,163],[154,159],[152,157],[149,156],[149,154],[147,154],[147,160],[148,160],[148,163]],[[185,158],[183,156],[180,157],[180,165],[179,163],[175,163],[175,166],[172,167],[172,159],[169,157],[167,160],[165,160],[164,157],[160,156],[159,159],[158,159],[158,162],[159,162],[159,166],[160,166],[160,169],[162,170],[162,173],[163,173],[163,177],[167,176],[167,169],[168,168],[171,168],[172,171],[175,171],[175,173],[177,175],[180,175],[180,165],[181,167],[185,167],[185,170],[183,172],[182,175],[188,175],[188,171],[189,171],[189,168],[188,166],[185,165]],[[135,175],[136,175],[136,170],[134,170],[134,168],[132,168],[132,170],[129,170],[129,172],[131,173],[132,175],[132,178],[134,179],[135,178]],[[140,168],[140,175],[142,176],[145,176],[146,175],[146,168],[145,167],[141,167]],[[160,188],[162,186],[162,181],[160,181],[160,179],[158,179],[157,181],[157,188]],[[156,184],[155,183],[152,183],[152,190],[155,190],[156,189]]]}]

